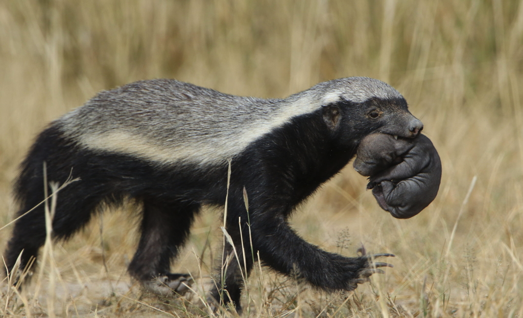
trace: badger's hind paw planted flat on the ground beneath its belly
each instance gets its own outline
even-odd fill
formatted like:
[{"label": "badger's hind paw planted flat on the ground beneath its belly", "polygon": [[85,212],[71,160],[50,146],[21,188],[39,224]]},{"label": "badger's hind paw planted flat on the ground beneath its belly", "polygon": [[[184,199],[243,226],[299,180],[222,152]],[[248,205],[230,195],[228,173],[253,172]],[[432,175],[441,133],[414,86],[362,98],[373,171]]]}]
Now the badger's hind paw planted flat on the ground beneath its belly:
[{"label": "badger's hind paw planted flat on the ground beneath its belly", "polygon": [[169,296],[173,293],[183,294],[189,290],[192,284],[190,274],[165,274],[152,280],[142,281],[142,285],[156,295]]}]

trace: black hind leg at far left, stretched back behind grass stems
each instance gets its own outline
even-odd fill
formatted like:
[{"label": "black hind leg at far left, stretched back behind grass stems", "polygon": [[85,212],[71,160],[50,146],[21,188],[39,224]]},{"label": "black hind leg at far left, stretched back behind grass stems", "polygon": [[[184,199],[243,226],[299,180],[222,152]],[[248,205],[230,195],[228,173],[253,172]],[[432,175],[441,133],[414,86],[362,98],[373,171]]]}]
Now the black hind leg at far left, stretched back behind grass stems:
[{"label": "black hind leg at far left, stretched back behind grass stems", "polygon": [[[72,182],[62,189],[57,196],[52,222],[52,237],[55,240],[66,241],[75,232],[82,229],[96,213],[97,206],[104,201],[107,186],[89,178],[85,173],[85,160],[88,156],[78,151],[68,140],[65,140],[54,127],[43,131],[37,142],[32,146],[24,162],[20,166],[20,174],[15,182],[14,193],[20,205],[15,221],[13,234],[7,243],[5,251],[5,269],[17,284],[17,272],[33,266],[29,274],[35,271],[38,251],[46,241],[46,217],[44,214],[44,165],[46,162],[47,179],[49,182],[64,184],[72,175],[82,180]],[[69,158],[63,162],[61,158]],[[48,195],[52,193],[49,186]],[[51,201],[51,200],[49,200]],[[49,203],[51,206],[51,203]],[[52,206],[51,206],[52,207]],[[74,213],[71,213],[74,211]],[[21,254],[21,255],[20,255]],[[18,268],[15,264],[20,255]],[[27,277],[30,277],[27,276]]]}]

